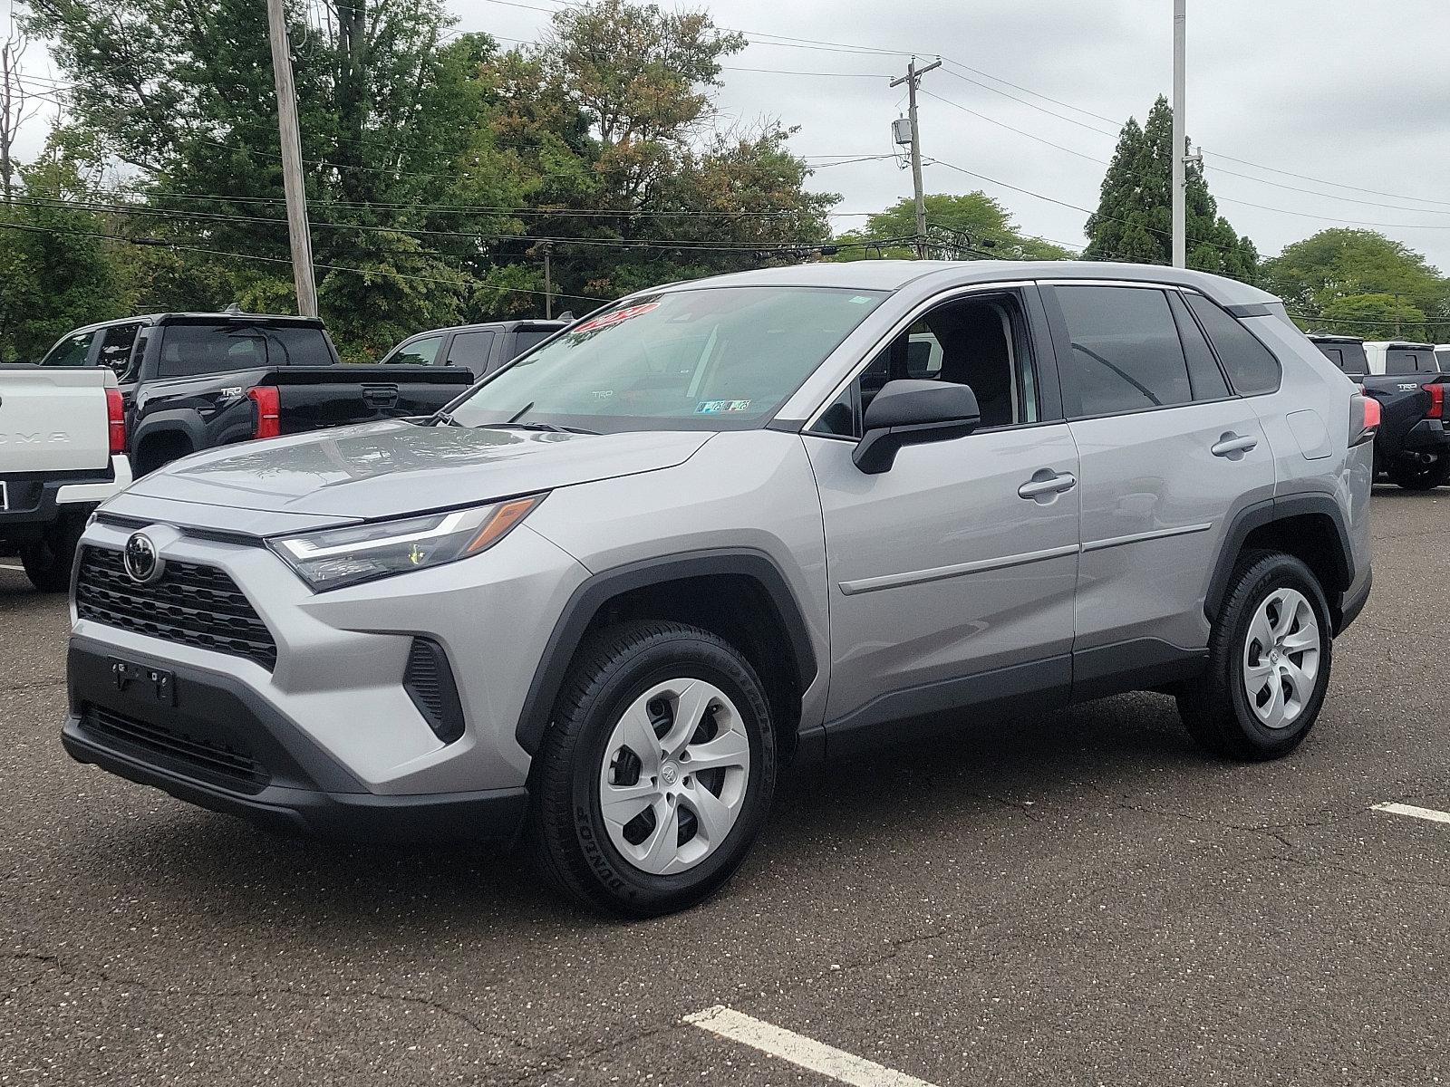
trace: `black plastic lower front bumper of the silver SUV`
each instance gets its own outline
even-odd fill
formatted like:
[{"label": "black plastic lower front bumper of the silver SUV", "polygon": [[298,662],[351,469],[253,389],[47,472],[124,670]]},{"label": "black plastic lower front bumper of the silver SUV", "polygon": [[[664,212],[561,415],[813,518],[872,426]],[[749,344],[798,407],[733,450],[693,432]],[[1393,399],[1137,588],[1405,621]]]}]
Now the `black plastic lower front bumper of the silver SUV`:
[{"label": "black plastic lower front bumper of the silver SUV", "polygon": [[[123,664],[133,678],[117,678]],[[354,841],[513,841],[528,793],[377,796],[236,678],[71,639],[65,751],[213,812]],[[165,677],[158,691],[157,680]]]}]

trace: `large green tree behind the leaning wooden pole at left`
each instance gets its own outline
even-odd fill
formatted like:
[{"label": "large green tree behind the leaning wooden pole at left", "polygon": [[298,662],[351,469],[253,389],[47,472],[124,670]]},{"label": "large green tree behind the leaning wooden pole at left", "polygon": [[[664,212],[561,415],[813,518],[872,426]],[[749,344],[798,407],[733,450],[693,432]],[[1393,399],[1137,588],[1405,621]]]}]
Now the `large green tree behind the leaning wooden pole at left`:
[{"label": "large green tree behind the leaning wooden pole at left", "polygon": [[[291,309],[264,4],[35,0],[33,12],[75,81],[80,123],[136,172],[133,196],[109,199],[141,201],[130,232],[177,246],[128,264],[141,293]],[[319,299],[344,352],[367,355],[390,330],[458,317],[493,239],[521,233],[508,209],[528,184],[483,123],[494,43],[445,41],[439,0],[293,3],[290,22]]]}]

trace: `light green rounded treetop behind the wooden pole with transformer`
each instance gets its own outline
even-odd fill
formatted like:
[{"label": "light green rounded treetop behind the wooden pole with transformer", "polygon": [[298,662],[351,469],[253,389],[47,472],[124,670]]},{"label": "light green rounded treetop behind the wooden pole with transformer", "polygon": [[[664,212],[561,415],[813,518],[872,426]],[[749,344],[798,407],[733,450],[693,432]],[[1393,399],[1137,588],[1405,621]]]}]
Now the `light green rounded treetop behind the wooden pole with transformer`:
[{"label": "light green rounded treetop behind the wooden pole with transformer", "polygon": [[[1012,215],[1000,201],[983,191],[948,194],[928,193],[927,232],[929,255],[948,261],[1066,261],[1072,252],[1053,242],[1018,230]],[[840,235],[838,259],[858,261],[870,257],[909,258],[909,241],[916,233],[916,203],[902,199],[884,212],[871,215],[866,225]],[[880,239],[908,239],[871,245]]]}]

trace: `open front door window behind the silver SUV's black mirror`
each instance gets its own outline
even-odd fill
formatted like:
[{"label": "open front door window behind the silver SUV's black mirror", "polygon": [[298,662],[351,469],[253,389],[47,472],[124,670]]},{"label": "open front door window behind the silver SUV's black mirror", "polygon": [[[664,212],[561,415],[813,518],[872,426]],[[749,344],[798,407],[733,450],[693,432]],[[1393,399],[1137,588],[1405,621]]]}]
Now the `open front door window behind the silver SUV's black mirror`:
[{"label": "open front door window behind the silver SUV's black mirror", "polygon": [[972,386],[983,429],[1041,417],[1027,325],[1011,296],[963,299],[928,310],[867,364],[813,430],[860,438],[866,409],[887,381],[899,378]]}]

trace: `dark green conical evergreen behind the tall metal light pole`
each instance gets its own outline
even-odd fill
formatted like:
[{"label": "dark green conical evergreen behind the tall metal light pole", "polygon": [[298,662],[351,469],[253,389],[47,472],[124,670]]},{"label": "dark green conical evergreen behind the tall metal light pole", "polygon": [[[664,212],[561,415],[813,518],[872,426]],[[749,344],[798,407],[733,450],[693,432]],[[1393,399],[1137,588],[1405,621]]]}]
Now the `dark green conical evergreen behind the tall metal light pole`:
[{"label": "dark green conical evergreen behind the tall metal light pole", "polygon": [[[1186,151],[1186,148],[1185,148]],[[1148,120],[1122,126],[1118,148],[1102,180],[1098,210],[1088,219],[1092,261],[1170,264],[1173,261],[1173,110],[1159,96]],[[1204,168],[1190,164],[1186,187],[1188,265],[1253,283],[1259,252],[1218,215]]]}]

